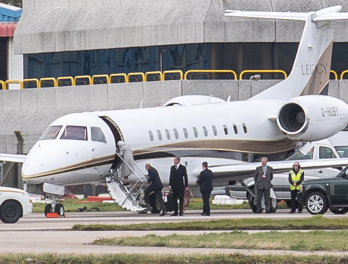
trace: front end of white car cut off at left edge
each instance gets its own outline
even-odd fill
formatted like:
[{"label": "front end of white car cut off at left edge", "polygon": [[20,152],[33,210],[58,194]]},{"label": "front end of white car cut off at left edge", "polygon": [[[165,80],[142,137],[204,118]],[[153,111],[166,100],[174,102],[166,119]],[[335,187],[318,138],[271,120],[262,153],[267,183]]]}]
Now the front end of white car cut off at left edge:
[{"label": "front end of white car cut off at left edge", "polygon": [[29,215],[33,209],[29,194],[16,188],[0,186],[0,220],[14,224],[22,216]]}]

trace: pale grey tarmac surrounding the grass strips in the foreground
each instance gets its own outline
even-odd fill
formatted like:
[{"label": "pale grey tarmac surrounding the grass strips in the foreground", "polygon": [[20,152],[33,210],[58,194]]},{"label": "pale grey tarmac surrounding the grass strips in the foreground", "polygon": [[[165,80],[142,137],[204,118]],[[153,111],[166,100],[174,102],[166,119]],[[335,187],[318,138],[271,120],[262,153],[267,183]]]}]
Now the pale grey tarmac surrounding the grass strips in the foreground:
[{"label": "pale grey tarmac surrounding the grass strips in the foreground", "polygon": [[[98,238],[116,236],[142,236],[156,233],[169,234],[201,234],[225,231],[68,231],[74,224],[130,224],[184,222],[213,219],[255,218],[250,210],[212,210],[210,217],[199,215],[200,210],[186,211],[183,217],[158,217],[150,213],[132,212],[80,212],[66,213],[65,218],[45,218],[43,213],[33,213],[21,218],[16,224],[0,223],[1,253],[59,253],[59,254],[208,254],[208,253],[242,253],[242,254],[293,254],[303,255],[336,255],[347,256],[348,251],[291,251],[291,250],[248,250],[248,249],[206,249],[206,248],[166,248],[166,247],[128,247],[128,246],[96,246],[93,241]],[[258,218],[286,219],[288,209],[278,209],[276,213],[257,215]],[[292,218],[312,217],[307,212],[291,215]],[[326,213],[324,217],[347,217]],[[259,232],[259,231],[249,231]],[[264,231],[260,231],[264,232]],[[267,231],[266,231],[267,232]],[[286,232],[286,231],[285,231]]]}]

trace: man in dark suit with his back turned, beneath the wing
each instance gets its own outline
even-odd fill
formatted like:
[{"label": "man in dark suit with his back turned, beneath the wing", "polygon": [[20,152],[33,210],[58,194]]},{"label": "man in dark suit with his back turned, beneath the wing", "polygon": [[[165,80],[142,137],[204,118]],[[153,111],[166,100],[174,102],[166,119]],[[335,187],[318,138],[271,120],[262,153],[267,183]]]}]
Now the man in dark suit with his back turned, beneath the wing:
[{"label": "man in dark suit with his back turned, beneath the wing", "polygon": [[203,200],[203,212],[200,214],[201,216],[209,216],[210,215],[210,204],[209,197],[213,191],[213,177],[214,174],[211,170],[208,170],[208,163],[202,163],[203,171],[200,172],[199,177],[196,183],[199,184],[199,191],[202,194]]}]

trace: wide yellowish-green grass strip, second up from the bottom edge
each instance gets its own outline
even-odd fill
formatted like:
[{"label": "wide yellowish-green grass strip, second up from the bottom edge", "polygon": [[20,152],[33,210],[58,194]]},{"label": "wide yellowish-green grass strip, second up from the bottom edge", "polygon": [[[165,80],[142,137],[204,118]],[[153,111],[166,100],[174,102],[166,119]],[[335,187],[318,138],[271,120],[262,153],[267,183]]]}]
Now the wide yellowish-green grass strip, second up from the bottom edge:
[{"label": "wide yellowish-green grass strip, second up from the bottom edge", "polygon": [[199,235],[171,234],[159,236],[148,234],[142,237],[122,236],[100,238],[97,245],[170,248],[235,248],[276,250],[347,250],[348,231],[309,232],[260,232],[249,234],[243,231]]}]

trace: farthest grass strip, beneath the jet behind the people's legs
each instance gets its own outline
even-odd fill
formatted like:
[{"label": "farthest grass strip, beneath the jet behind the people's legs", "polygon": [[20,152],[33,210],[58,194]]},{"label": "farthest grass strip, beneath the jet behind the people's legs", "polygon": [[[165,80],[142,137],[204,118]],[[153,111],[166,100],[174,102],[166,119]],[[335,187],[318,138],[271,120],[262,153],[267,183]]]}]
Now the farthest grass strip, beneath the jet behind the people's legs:
[{"label": "farthest grass strip, beneath the jet behind the people's legs", "polygon": [[[61,202],[64,206],[65,212],[76,212],[78,208],[87,207],[84,212],[112,212],[112,211],[125,211],[119,207],[116,203],[102,203],[102,202],[86,202],[87,199],[65,199]],[[211,201],[213,198],[211,198]],[[45,211],[46,203],[33,203],[33,213],[43,213]],[[92,208],[99,208],[99,210],[92,210]],[[201,198],[193,198],[190,202],[188,210],[201,210],[203,208],[203,202]],[[210,208],[214,209],[250,209],[247,202],[242,204],[210,204]],[[278,208],[286,208],[285,203],[278,203]]]}]

